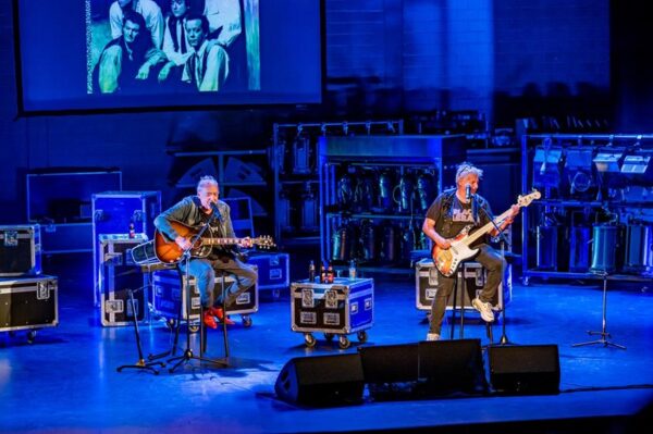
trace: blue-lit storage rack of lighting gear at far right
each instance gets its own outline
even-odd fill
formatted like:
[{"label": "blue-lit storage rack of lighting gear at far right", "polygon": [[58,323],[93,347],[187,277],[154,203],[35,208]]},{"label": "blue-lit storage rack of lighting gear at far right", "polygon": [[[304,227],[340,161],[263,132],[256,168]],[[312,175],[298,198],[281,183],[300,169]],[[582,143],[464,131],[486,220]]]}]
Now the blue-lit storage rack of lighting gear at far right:
[{"label": "blue-lit storage rack of lighting gear at far right", "polygon": [[[542,156],[542,149],[553,149],[562,151],[562,154],[556,154],[550,159],[550,156],[544,153]],[[537,159],[537,148],[540,151],[540,160],[549,164],[540,164],[539,169],[534,168],[534,160]],[[613,195],[606,191],[609,189],[603,182],[601,176],[604,174],[595,174],[596,179],[594,184],[595,195],[586,196],[584,198],[578,197],[566,197],[572,196],[565,191],[568,186],[559,185],[553,188],[553,191],[544,189],[542,193],[542,199],[532,202],[530,207],[522,208],[522,227],[521,227],[521,249],[522,249],[522,281],[526,285],[529,284],[530,277],[540,278],[568,278],[568,280],[602,280],[603,274],[599,272],[592,272],[590,269],[586,271],[565,271],[565,264],[560,266],[563,270],[541,270],[537,266],[534,261],[534,246],[537,238],[534,237],[533,226],[537,225],[535,219],[538,216],[555,214],[556,210],[563,210],[565,213],[568,212],[584,212],[586,214],[594,214],[595,220],[599,218],[601,212],[609,211],[617,219],[621,215],[631,213],[639,213],[644,220],[653,222],[653,183],[650,182],[650,175],[653,164],[653,135],[650,134],[586,134],[586,135],[574,135],[574,134],[537,134],[537,135],[525,135],[521,138],[521,187],[522,191],[528,191],[532,187],[533,174],[535,171],[541,173],[546,172],[553,165],[560,170],[560,183],[568,182],[569,179],[564,178],[563,165],[567,164],[565,161],[565,154],[569,150],[574,149],[591,149],[592,164],[591,170],[595,171],[595,165],[599,164],[595,159],[600,153],[607,154],[614,152],[616,156],[614,161],[607,161],[607,164],[614,164],[614,168],[619,168],[619,160],[624,160],[628,154],[639,153],[644,160],[640,161],[638,170],[644,168],[648,177],[642,176],[636,184],[625,183],[619,188],[613,189]],[[620,154],[620,156],[619,156]],[[617,158],[618,157],[618,158]],[[650,160],[645,160],[649,158]],[[646,164],[649,166],[646,168]],[[623,168],[623,166],[621,166]],[[618,170],[619,175],[627,176],[632,175],[624,169]],[[626,174],[625,174],[626,173]],[[649,179],[649,181],[648,181]],[[556,191],[557,190],[557,191]],[[560,194],[559,191],[563,191]],[[619,193],[615,197],[614,193]],[[557,197],[556,197],[557,196]],[[566,238],[569,241],[568,238]],[[615,252],[615,255],[618,255]],[[626,273],[623,270],[617,270],[614,273],[608,273],[607,280],[621,280],[621,281],[634,281],[634,282],[650,282],[650,272],[642,273]]]}]

